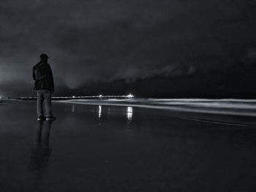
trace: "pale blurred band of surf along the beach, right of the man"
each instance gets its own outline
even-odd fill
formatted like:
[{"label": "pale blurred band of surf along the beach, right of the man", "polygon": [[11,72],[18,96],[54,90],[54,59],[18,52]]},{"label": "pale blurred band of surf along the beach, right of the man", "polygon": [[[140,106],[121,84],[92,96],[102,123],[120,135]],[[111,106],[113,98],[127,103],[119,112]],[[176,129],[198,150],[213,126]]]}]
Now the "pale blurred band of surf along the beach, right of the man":
[{"label": "pale blurred band of surf along the beach, right of the man", "polygon": [[71,99],[57,102],[143,107],[176,112],[256,117],[255,99]]}]

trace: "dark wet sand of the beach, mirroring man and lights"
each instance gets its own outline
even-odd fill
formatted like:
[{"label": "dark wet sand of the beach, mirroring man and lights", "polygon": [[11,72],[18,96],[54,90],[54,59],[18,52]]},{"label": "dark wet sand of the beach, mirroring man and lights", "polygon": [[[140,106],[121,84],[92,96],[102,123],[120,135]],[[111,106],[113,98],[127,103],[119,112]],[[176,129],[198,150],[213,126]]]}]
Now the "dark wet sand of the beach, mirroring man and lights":
[{"label": "dark wet sand of the beach, mirroring man and lights", "polygon": [[[143,107],[0,104],[1,191],[255,191],[256,129]],[[170,115],[171,114],[171,115]]]}]

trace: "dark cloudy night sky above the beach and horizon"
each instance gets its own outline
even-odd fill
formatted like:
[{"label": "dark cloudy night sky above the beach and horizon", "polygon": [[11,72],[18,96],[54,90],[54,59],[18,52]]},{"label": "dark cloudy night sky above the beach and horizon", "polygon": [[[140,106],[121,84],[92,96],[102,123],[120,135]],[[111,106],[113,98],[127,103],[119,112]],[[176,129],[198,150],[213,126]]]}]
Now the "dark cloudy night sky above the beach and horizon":
[{"label": "dark cloudy night sky above the beach and horizon", "polygon": [[[218,74],[216,85],[230,87],[227,71],[255,63],[255,9],[252,0],[2,0],[0,95],[34,94],[31,68],[41,53],[50,56],[56,95],[102,93],[95,88],[100,83],[112,83],[111,93],[123,80],[129,86],[121,85],[120,93],[150,97],[161,78],[170,84],[163,90],[172,88],[172,80],[176,85],[180,79],[182,85],[195,80],[195,95],[207,90],[202,74],[211,79]],[[150,91],[138,91],[138,83]],[[184,93],[179,88],[173,90]]]}]

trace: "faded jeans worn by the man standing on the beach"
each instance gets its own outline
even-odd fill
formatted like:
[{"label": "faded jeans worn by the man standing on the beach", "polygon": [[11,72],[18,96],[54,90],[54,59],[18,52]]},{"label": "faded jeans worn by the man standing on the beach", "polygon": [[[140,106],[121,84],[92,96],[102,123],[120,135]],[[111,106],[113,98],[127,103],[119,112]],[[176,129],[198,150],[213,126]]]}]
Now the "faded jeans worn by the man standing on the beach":
[{"label": "faded jeans worn by the man standing on the beach", "polygon": [[51,112],[51,91],[48,90],[37,90],[37,116],[44,115],[43,103],[45,103],[45,116],[46,118],[52,116]]}]

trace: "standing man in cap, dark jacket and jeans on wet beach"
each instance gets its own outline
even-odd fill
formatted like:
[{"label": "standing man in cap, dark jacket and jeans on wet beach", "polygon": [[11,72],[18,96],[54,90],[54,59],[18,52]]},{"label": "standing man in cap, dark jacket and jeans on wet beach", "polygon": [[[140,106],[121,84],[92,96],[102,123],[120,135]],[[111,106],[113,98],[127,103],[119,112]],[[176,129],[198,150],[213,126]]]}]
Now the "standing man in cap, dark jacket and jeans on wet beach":
[{"label": "standing man in cap, dark jacket and jeans on wet beach", "polygon": [[[37,91],[37,120],[55,120],[51,111],[51,93],[54,91],[53,73],[48,64],[48,55],[42,53],[33,67],[34,89]],[[42,104],[45,103],[45,116]]]}]

